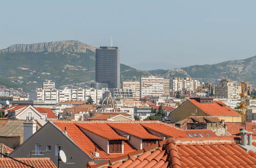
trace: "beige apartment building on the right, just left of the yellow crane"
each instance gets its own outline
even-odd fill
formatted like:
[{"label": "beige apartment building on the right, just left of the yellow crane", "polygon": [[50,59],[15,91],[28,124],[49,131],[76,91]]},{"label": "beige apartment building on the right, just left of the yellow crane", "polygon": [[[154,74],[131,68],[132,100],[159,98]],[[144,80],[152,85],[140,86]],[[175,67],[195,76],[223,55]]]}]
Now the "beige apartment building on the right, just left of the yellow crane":
[{"label": "beige apartment building on the right, just left of the yellow crane", "polygon": [[215,97],[226,99],[241,99],[241,82],[231,79],[222,79],[219,85],[215,86]]}]

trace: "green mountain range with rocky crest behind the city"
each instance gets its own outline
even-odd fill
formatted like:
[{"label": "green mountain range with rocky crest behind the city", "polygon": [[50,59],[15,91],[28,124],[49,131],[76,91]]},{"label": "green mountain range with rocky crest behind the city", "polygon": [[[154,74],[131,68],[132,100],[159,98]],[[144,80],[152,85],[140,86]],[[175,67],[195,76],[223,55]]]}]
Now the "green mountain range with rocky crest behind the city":
[{"label": "green mountain range with rocky crest behind the city", "polygon": [[[256,81],[256,56],[213,65],[195,65],[170,70],[142,71],[121,64],[121,80],[139,76],[232,78]],[[56,87],[86,87],[95,80],[95,47],[77,40],[15,44],[0,50],[0,86],[34,90],[45,80]],[[11,82],[12,81],[12,82]]]}]

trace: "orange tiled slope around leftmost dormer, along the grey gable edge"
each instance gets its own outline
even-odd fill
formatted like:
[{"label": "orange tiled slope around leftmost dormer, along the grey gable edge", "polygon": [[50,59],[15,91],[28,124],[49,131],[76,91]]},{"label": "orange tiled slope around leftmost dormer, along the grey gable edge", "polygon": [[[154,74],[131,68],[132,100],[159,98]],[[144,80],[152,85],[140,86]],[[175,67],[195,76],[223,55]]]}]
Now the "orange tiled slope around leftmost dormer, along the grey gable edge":
[{"label": "orange tiled slope around leftmost dormer, along the grey gable edge", "polygon": [[[97,121],[99,122],[99,121]],[[74,143],[87,155],[94,159],[111,159],[124,154],[135,151],[135,148],[131,144],[124,141],[124,154],[108,154],[104,152],[100,147],[97,146],[86,134],[84,134],[79,127],[76,125],[78,123],[97,123],[96,121],[53,121],[53,123],[64,131],[67,128],[68,136],[74,141]],[[104,122],[104,121],[103,121]],[[93,129],[94,127],[92,127]],[[92,153],[95,151],[97,146],[97,152],[99,152],[100,157],[95,157]]]}]

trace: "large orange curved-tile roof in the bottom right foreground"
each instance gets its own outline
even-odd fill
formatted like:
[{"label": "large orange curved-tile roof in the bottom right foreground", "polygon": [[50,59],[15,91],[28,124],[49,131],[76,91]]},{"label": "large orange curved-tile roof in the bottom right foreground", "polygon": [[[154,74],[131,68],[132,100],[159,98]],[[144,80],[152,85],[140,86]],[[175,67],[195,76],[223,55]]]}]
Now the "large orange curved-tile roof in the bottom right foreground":
[{"label": "large orange curved-tile roof in the bottom right foreground", "polygon": [[234,137],[222,137],[223,142],[218,138],[201,138],[196,143],[169,138],[119,158],[90,162],[88,167],[256,167],[255,152],[239,147],[232,142]]}]

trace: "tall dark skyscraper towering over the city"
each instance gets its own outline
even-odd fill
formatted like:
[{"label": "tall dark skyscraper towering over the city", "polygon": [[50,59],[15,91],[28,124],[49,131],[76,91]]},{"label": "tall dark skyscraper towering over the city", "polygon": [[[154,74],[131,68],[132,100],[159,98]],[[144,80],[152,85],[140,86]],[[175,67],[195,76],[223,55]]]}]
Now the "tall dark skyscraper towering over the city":
[{"label": "tall dark skyscraper towering over the city", "polygon": [[96,82],[120,88],[120,55],[118,47],[96,49]]}]

